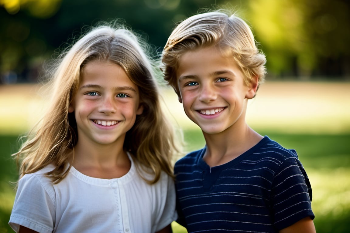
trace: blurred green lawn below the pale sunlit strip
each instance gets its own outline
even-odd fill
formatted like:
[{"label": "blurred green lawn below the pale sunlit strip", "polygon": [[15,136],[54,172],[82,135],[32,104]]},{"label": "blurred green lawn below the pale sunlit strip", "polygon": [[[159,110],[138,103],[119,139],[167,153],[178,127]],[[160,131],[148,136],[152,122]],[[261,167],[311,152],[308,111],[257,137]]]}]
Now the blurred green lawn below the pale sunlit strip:
[{"label": "blurred green lawn below the pale sunlit strip", "polygon": [[[312,206],[318,233],[347,233],[350,228],[350,134],[267,134],[286,148],[294,148],[299,154],[312,188]],[[188,150],[204,145],[201,131],[185,130]],[[15,192],[13,185],[18,175],[15,161],[10,154],[18,148],[17,136],[0,135],[0,232],[11,232],[7,224]],[[186,232],[173,223],[174,233]]]}]

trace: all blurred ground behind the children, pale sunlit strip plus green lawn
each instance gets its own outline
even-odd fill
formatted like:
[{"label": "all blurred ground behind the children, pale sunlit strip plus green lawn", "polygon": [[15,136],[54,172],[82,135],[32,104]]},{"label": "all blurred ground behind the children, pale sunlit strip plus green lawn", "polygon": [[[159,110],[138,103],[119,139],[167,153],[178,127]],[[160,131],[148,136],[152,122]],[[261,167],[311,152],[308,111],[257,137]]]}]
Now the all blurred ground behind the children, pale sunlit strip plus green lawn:
[{"label": "all blurred ground behind the children, pale sunlit strip plus green lawn", "polygon": [[[350,83],[265,83],[248,104],[247,122],[286,148],[294,148],[313,188],[317,233],[350,229]],[[204,146],[199,128],[184,115],[173,90],[163,93],[175,124],[184,130],[186,151]],[[45,108],[40,86],[0,86],[0,232],[7,222],[18,177],[10,154]],[[174,233],[183,227],[172,224]]]}]

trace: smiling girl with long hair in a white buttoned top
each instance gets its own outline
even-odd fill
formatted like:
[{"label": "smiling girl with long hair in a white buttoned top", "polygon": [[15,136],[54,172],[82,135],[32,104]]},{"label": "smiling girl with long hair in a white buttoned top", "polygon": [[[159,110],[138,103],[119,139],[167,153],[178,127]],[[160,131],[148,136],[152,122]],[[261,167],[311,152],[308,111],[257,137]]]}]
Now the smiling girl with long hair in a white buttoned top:
[{"label": "smiling girl with long hair in a white buttoned top", "polygon": [[40,127],[14,154],[16,232],[171,232],[171,156],[146,45],[99,26],[61,55]]}]

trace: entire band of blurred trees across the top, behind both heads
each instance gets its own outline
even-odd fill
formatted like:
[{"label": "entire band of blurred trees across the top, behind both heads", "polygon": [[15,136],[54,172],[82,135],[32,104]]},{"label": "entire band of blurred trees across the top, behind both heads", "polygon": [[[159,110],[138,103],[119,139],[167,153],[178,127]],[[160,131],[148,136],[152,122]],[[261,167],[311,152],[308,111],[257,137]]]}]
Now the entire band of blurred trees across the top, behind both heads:
[{"label": "entire band of blurred trees across the top, behind both heads", "polygon": [[[84,26],[124,19],[160,51],[175,23],[212,0],[0,0],[0,74],[36,81]],[[216,0],[252,24],[270,75],[349,77],[347,0]],[[15,77],[15,78],[13,78]],[[9,79],[9,80],[11,80]]]}]

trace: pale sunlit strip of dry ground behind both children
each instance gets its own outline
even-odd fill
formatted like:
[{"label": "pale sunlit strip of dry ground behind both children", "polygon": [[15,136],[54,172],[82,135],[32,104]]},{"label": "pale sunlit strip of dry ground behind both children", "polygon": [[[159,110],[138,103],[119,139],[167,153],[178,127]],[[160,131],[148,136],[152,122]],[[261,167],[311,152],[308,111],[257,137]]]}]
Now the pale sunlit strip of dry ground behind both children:
[{"label": "pale sunlit strip of dry ground behind both children", "polygon": [[[172,89],[163,89],[169,114],[180,127],[196,128]],[[45,108],[40,85],[0,86],[0,133],[27,131]],[[284,133],[350,132],[349,82],[266,82],[250,100],[247,122],[254,129]]]}]

